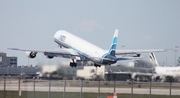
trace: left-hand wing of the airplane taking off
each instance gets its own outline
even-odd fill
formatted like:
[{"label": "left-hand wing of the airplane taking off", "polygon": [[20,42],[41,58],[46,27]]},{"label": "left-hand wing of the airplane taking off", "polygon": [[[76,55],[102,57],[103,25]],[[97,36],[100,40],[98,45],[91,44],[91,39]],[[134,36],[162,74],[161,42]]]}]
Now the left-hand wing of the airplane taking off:
[{"label": "left-hand wing of the airplane taking off", "polygon": [[44,53],[45,56],[49,57],[72,57],[78,56],[79,54],[72,49],[57,49],[57,50],[30,50],[30,49],[19,49],[19,48],[8,48],[9,50],[25,51],[33,53]]}]

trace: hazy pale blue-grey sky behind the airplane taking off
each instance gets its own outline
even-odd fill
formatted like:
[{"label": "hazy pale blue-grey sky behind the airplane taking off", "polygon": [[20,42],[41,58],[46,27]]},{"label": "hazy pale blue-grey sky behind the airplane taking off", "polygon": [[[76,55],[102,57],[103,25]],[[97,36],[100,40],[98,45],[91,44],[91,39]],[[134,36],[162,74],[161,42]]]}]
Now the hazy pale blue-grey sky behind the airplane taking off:
[{"label": "hazy pale blue-grey sky behind the airplane taking off", "polygon": [[[30,60],[25,53],[7,48],[58,48],[53,35],[62,29],[104,49],[109,48],[115,29],[118,49],[174,48],[180,46],[180,1],[0,0],[0,51],[17,56],[18,65],[58,63],[60,58],[48,60],[38,54]],[[175,64],[174,52],[156,56],[160,63]]]}]

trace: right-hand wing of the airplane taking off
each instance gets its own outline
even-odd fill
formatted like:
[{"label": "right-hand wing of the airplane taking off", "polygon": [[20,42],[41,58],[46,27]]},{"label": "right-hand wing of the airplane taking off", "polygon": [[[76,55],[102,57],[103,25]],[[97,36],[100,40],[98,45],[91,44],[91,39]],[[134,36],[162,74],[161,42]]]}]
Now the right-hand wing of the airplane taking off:
[{"label": "right-hand wing of the airplane taking off", "polygon": [[141,54],[151,52],[165,52],[173,49],[154,49],[154,50],[116,50],[116,55],[127,55],[127,54]]}]

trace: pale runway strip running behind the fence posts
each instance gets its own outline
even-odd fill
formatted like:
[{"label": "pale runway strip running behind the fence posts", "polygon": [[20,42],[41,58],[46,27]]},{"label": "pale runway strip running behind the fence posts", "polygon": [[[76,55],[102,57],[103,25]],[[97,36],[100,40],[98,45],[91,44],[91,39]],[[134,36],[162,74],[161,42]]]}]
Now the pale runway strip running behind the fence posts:
[{"label": "pale runway strip running behind the fence posts", "polygon": [[[4,90],[4,86],[1,84],[0,85],[0,90]],[[7,91],[18,91],[18,85],[7,85],[6,86]],[[21,91],[33,91],[34,87],[31,85],[21,85],[20,87]],[[64,92],[64,87],[55,87],[51,86],[36,86],[35,91],[44,91],[44,92]],[[66,92],[81,92],[80,87],[66,87],[65,88]],[[93,92],[93,93],[98,93],[98,87],[83,87],[82,92]],[[100,93],[113,93],[114,88],[109,88],[109,87],[101,87],[100,88]],[[116,88],[116,93],[118,94],[131,94],[131,88]],[[149,88],[134,88],[133,89],[134,94],[149,94],[150,90]],[[151,89],[151,94],[156,94],[156,95],[169,95],[170,90],[168,88],[156,88],[156,89]],[[180,90],[179,89],[172,89],[171,90],[171,95],[180,95]]]}]

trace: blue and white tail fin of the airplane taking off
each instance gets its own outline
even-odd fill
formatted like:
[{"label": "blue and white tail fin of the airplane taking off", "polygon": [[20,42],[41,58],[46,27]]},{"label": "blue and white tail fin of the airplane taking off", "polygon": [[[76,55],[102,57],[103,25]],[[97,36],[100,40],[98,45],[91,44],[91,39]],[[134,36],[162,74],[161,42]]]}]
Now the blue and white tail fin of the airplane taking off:
[{"label": "blue and white tail fin of the airplane taking off", "polygon": [[118,39],[118,30],[116,29],[111,42],[111,46],[109,48],[109,54],[112,56],[115,56],[116,53],[117,39]]}]

